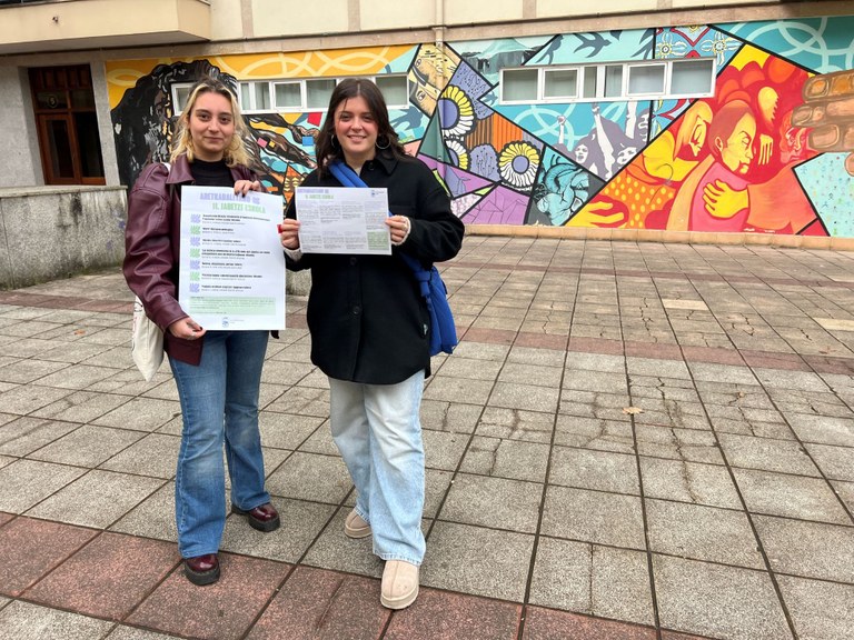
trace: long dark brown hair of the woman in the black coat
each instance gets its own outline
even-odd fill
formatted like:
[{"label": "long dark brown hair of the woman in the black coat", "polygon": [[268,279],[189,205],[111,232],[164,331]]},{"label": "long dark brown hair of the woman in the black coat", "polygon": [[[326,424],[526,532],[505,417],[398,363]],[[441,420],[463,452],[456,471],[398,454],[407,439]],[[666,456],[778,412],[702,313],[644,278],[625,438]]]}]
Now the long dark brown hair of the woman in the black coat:
[{"label": "long dark brown hair of the woman in the black coat", "polygon": [[317,137],[315,151],[317,152],[317,166],[320,173],[326,173],[327,163],[336,158],[344,160],[341,146],[335,138],[335,111],[345,100],[361,96],[368,103],[370,114],[377,122],[377,153],[391,156],[405,156],[404,146],[397,138],[397,133],[391,129],[388,120],[388,107],[386,99],[377,86],[367,78],[346,78],[338,82],[329,98],[329,110],[326,112],[326,119],[320,127],[320,133]]}]

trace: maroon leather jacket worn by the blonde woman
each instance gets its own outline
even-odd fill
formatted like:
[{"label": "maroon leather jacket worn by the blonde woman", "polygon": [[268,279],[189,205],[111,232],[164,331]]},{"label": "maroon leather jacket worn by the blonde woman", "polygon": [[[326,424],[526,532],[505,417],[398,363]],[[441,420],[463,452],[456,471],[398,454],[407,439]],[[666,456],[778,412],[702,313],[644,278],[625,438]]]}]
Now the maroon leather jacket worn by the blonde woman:
[{"label": "maroon leather jacket worn by the blonde woman", "polygon": [[[258,179],[241,166],[232,167],[231,176],[235,182]],[[186,156],[176,158],[171,171],[155,162],[139,174],[128,196],[122,270],[128,287],[142,301],[146,316],[163,330],[166,352],[183,362],[198,364],[205,337],[183,340],[168,331],[169,324],[187,317],[178,304],[181,184],[195,184]]]}]

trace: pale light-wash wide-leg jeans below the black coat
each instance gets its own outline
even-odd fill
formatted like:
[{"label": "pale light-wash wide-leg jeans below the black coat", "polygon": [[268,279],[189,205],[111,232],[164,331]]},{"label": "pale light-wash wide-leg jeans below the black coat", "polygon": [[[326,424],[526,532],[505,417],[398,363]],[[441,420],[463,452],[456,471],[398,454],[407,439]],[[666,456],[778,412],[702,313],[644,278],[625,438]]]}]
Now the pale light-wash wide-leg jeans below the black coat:
[{"label": "pale light-wash wide-leg jeans below the black coat", "polygon": [[370,523],[374,553],[420,564],[425,541],[424,371],[397,384],[329,378],[332,439],[356,486],[356,512]]}]

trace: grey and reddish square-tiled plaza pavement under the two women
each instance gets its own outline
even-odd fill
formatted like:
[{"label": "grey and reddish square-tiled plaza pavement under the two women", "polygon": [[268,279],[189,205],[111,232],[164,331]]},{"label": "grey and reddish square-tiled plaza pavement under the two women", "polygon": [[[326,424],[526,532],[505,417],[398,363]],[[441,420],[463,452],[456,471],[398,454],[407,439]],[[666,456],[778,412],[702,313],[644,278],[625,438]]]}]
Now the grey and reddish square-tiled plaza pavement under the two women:
[{"label": "grey and reddish square-tiled plaza pavement under the two women", "polygon": [[854,637],[854,253],[467,237],[425,391],[421,594],[378,603],[308,358],[261,390],[282,528],[181,574],[180,430],[117,270],[0,292],[0,639]]}]

